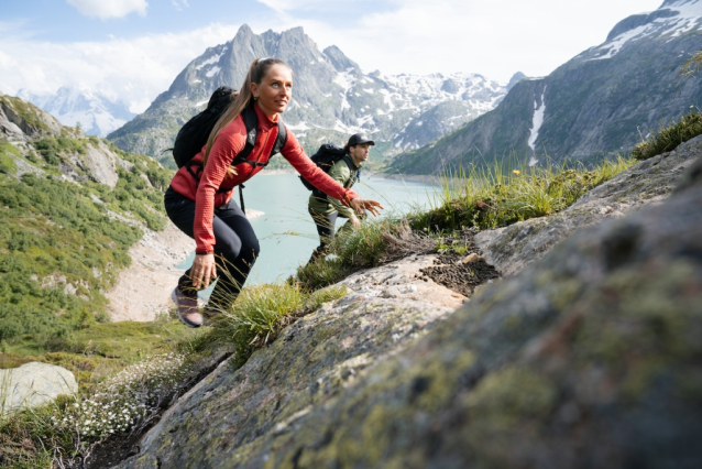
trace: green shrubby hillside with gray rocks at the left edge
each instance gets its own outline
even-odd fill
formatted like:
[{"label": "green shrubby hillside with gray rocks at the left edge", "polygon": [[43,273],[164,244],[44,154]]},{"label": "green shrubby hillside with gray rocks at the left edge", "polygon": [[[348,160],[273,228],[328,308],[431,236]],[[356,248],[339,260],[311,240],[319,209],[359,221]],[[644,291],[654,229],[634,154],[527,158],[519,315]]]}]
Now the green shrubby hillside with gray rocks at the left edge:
[{"label": "green shrubby hillside with gray rocks at the left edge", "polygon": [[165,227],[171,171],[0,95],[0,340],[52,347],[107,321],[106,291],[144,229]]}]

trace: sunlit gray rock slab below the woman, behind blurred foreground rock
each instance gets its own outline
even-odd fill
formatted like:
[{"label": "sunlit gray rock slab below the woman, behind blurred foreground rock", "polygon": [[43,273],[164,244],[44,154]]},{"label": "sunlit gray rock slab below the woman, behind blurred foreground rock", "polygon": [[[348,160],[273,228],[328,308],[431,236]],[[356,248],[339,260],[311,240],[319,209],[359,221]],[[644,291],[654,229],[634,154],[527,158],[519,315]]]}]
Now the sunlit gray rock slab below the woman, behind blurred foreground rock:
[{"label": "sunlit gray rock slab below the woman, behind blurred foreground rock", "polygon": [[141,454],[120,467],[231,467],[231,448],[262,433],[294,432],[314,406],[462,303],[461,295],[417,277],[435,259],[405,259],[350,276],[342,282],[350,291],[344,298],[289,326],[241,369],[221,367],[182,397],[142,439]]}]

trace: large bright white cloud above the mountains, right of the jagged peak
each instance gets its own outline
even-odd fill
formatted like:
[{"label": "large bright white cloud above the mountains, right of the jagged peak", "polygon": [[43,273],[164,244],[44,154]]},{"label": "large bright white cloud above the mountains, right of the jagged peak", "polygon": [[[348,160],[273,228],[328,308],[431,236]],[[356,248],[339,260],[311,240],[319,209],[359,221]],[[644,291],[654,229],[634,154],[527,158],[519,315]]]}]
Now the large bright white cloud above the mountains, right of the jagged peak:
[{"label": "large bright white cloud above the mountains, right of the jagged peak", "polygon": [[[517,70],[548,75],[604,42],[626,17],[660,0],[392,0],[383,12],[329,24],[306,12],[326,0],[261,0],[278,12],[278,30],[303,25],[321,47],[338,45],[365,70],[474,72],[506,81]],[[382,3],[382,2],[381,2]],[[366,10],[361,10],[361,12]],[[268,21],[262,29],[271,28]]]}]

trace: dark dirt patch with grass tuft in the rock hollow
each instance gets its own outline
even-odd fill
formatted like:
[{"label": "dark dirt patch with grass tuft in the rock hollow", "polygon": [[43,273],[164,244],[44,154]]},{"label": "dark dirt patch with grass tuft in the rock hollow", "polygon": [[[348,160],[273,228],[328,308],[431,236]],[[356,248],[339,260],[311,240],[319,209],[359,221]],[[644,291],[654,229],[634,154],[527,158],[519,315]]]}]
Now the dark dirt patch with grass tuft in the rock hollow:
[{"label": "dark dirt patch with grass tuft in the rock hollow", "polygon": [[475,288],[500,279],[500,272],[480,257],[473,230],[464,230],[441,242],[442,251],[434,265],[419,270],[421,277],[470,297]]}]

